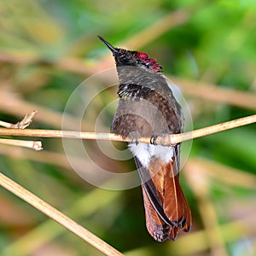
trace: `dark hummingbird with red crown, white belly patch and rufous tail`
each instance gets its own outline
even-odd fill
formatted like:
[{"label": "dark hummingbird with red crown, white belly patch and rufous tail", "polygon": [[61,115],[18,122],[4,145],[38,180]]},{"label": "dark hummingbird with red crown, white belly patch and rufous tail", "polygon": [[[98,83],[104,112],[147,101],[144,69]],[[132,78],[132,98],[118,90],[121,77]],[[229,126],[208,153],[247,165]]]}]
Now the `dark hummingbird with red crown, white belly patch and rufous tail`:
[{"label": "dark hummingbird with red crown, white belly patch and rufous tail", "polygon": [[[148,54],[113,47],[119,76],[119,104],[111,132],[132,139],[128,148],[142,182],[148,233],[155,241],[174,241],[178,232],[188,232],[191,212],[179,183],[180,143],[156,145],[156,138],[183,132],[182,108],[172,94],[162,67]],[[137,143],[151,137],[151,143]]]}]

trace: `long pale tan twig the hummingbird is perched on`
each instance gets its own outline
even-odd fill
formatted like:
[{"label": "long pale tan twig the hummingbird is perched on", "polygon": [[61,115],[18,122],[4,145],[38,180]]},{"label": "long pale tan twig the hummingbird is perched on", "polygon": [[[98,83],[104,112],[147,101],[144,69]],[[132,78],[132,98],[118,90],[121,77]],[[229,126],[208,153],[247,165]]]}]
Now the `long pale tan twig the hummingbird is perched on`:
[{"label": "long pale tan twig the hummingbird is perched on", "polygon": [[[157,137],[155,143],[163,146],[176,145],[195,139],[197,137],[204,137],[220,131],[230,130],[242,125],[249,125],[256,123],[256,114],[221,123],[218,125],[207,126],[195,131],[187,131],[184,133],[170,134],[165,137]],[[77,139],[90,139],[90,140],[105,140],[116,142],[134,142],[131,138],[123,138],[113,133],[95,133],[86,131],[60,131],[60,130],[36,130],[36,129],[4,129],[0,128],[0,135],[9,136],[25,136],[25,137],[65,137],[65,138],[77,138]],[[141,137],[137,139],[137,143],[151,143],[151,137]]]}]

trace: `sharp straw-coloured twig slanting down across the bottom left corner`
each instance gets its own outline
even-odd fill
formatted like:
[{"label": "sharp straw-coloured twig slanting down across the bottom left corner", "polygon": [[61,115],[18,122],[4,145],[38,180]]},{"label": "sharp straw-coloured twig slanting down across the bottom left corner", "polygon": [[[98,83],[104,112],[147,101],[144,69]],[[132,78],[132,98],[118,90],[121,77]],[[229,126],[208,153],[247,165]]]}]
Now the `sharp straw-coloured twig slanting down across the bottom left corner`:
[{"label": "sharp straw-coloured twig slanting down across the bottom left corner", "polygon": [[21,187],[18,183],[15,183],[9,179],[9,177],[4,176],[3,173],[0,173],[0,185],[32,205],[32,207],[37,208],[40,212],[44,212],[44,214],[49,216],[49,218],[54,219],[57,223],[67,228],[67,230],[72,231],[75,235],[79,236],[84,241],[87,241],[90,243],[90,245],[96,247],[105,255],[123,255],[122,253],[119,253],[119,251],[117,251],[115,248],[108,245],[108,243],[102,241],[99,237],[90,233],[89,230],[84,229],[84,227],[74,222],[73,219],[68,218],[65,214],[59,212],[54,207],[51,207],[48,203],[38,198],[36,195],[33,195],[31,192]]}]

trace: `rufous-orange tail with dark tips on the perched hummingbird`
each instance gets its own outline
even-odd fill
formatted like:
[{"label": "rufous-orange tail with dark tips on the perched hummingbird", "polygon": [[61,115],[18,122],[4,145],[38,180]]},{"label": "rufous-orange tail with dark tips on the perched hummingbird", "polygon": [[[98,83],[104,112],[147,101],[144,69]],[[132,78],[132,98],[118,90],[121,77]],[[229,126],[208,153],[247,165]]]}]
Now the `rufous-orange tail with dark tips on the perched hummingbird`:
[{"label": "rufous-orange tail with dark tips on the perched hummingbird", "polygon": [[160,163],[155,175],[150,168],[155,169],[159,161],[155,159],[153,167],[149,165],[147,169],[136,156],[134,159],[142,179],[148,233],[156,241],[174,241],[179,230],[189,231],[191,226],[191,212],[179,184],[176,157],[168,164]]}]

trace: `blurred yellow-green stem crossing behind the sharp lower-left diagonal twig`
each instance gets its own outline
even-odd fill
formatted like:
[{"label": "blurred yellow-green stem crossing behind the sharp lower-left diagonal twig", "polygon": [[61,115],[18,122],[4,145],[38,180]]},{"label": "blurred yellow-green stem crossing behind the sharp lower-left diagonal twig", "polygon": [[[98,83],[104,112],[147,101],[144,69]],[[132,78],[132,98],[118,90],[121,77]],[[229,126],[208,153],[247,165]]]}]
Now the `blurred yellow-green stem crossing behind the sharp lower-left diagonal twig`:
[{"label": "blurred yellow-green stem crossing behind the sharp lower-left diagonal twig", "polygon": [[[111,191],[103,189],[92,189],[89,193],[79,196],[77,199],[68,205],[67,209],[61,211],[65,215],[72,216],[74,219],[90,218],[95,212],[100,211],[104,207],[108,207],[109,204],[119,200],[121,195],[120,191]],[[90,206],[90,207],[84,207]],[[118,216],[123,211],[123,206],[119,206],[111,214]],[[114,216],[113,216],[114,219]],[[112,225],[112,221],[108,221],[108,224],[104,226],[105,229]],[[2,256],[9,255],[33,255],[36,254],[38,248],[45,247],[51,241],[54,241],[58,236],[61,236],[66,230],[61,225],[51,221],[50,218],[37,225],[32,230],[23,234],[19,238],[15,239],[8,246],[1,250]],[[47,236],[42,236],[47,234]],[[28,242],[29,241],[29,242]],[[102,254],[102,253],[101,253]]]}]

